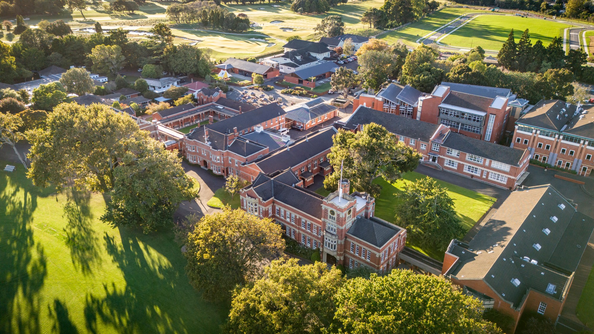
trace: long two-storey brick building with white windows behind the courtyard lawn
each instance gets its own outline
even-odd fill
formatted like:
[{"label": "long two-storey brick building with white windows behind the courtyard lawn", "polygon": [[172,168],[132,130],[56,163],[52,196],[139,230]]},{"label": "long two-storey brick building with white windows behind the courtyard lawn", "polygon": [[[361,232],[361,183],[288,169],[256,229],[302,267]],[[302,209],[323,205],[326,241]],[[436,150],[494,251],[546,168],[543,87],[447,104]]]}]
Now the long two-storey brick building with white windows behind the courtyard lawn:
[{"label": "long two-storey brick building with white windows behind the courtyard lawn", "polygon": [[421,153],[421,163],[426,165],[507,189],[516,188],[528,175],[528,150],[463,136],[445,125],[359,106],[345,128],[359,131],[371,122]]}]

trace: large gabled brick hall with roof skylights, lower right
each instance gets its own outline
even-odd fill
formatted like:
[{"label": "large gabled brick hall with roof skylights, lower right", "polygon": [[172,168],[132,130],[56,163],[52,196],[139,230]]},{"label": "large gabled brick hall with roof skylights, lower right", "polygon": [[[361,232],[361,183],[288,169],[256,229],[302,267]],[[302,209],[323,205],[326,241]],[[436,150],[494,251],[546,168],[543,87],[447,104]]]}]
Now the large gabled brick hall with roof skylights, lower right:
[{"label": "large gabled brick hall with roof skylights, lower right", "polygon": [[593,230],[594,219],[551,185],[517,190],[472,241],[452,240],[442,273],[486,309],[511,316],[511,333],[527,310],[554,322]]}]

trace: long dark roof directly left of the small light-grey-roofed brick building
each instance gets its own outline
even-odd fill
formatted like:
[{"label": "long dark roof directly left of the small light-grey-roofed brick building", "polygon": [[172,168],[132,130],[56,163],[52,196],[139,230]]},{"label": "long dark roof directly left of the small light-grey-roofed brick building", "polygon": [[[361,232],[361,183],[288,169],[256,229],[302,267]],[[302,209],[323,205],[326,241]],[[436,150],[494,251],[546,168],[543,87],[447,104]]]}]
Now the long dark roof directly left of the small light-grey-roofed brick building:
[{"label": "long dark roof directly left of the small light-grey-roofed brick building", "polygon": [[209,130],[218,131],[219,133],[232,133],[233,128],[243,130],[245,128],[253,127],[261,124],[277,116],[285,115],[283,108],[280,108],[276,103],[270,103],[266,106],[261,106],[249,112],[242,112],[237,116],[223,119],[213,124],[208,124],[206,127]]}]

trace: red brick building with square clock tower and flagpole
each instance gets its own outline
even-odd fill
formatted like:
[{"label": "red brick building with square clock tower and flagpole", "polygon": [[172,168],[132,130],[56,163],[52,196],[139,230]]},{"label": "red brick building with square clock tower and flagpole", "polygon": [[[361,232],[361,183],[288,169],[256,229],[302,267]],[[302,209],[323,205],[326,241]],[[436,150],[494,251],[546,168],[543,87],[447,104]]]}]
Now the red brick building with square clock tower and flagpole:
[{"label": "red brick building with square clock tower and flagpole", "polygon": [[275,177],[259,174],[241,190],[241,207],[273,218],[287,237],[319,249],[328,264],[366,266],[387,272],[399,263],[406,229],[374,217],[375,198],[350,192],[345,179],[327,197],[305,190],[288,170]]}]

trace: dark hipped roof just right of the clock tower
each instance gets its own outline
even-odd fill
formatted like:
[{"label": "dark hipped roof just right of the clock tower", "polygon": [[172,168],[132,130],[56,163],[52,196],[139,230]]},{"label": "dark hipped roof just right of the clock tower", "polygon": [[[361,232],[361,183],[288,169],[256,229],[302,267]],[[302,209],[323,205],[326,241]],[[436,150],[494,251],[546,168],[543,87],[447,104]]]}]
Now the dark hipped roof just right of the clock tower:
[{"label": "dark hipped roof just right of the clock tower", "polygon": [[357,217],[347,234],[381,248],[398,232],[400,232],[398,226],[384,222],[381,219]]}]

